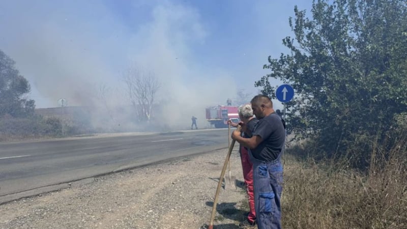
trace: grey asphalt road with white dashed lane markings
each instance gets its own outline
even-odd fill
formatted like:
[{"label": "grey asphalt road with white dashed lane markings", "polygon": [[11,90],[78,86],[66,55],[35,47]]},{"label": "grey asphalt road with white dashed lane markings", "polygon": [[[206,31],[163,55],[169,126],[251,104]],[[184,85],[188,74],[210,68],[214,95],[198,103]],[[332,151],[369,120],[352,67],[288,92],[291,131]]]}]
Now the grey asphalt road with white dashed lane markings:
[{"label": "grey asphalt road with white dashed lane markings", "polygon": [[227,129],[0,144],[0,203],[10,194],[227,147]]}]

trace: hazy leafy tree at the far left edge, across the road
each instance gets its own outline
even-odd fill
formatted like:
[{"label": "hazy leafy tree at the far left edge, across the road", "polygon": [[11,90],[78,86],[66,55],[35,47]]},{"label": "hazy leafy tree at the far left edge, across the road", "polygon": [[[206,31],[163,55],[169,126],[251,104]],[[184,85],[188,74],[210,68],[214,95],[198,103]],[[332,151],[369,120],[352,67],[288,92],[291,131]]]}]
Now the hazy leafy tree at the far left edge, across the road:
[{"label": "hazy leafy tree at the far left edge, across the road", "polygon": [[30,83],[15,68],[15,62],[0,50],[0,117],[34,114],[35,101],[27,99]]}]

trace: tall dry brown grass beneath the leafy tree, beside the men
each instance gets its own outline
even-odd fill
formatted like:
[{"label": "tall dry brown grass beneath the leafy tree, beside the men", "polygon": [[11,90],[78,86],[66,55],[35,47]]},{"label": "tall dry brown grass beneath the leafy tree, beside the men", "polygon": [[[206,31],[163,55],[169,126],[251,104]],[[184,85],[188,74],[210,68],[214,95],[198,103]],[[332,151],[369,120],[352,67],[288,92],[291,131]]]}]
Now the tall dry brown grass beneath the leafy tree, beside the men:
[{"label": "tall dry brown grass beneath the leafy tree, beside the men", "polygon": [[399,141],[386,159],[372,160],[363,172],[285,154],[283,228],[407,228],[406,148]]}]

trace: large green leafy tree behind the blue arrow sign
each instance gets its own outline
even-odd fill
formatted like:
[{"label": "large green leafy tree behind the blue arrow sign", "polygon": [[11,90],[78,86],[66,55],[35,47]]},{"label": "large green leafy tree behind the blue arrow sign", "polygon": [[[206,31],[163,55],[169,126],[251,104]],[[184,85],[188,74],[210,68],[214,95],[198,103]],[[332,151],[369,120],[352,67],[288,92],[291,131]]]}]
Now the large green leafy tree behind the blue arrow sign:
[{"label": "large green leafy tree behind the blue arrow sign", "polygon": [[366,165],[394,118],[407,110],[407,1],[314,0],[312,19],[294,8],[288,54],[269,56],[271,73],[255,82],[274,97],[269,78],[293,85],[288,122],[329,156]]}]

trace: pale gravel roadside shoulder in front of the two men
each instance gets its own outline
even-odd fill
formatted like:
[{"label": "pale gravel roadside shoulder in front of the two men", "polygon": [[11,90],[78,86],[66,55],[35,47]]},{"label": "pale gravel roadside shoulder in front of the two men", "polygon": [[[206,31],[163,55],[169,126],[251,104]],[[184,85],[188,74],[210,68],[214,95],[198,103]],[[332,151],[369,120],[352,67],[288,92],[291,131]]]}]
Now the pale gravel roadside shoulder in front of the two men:
[{"label": "pale gravel roadside shoulder in front of the two men", "polygon": [[[247,206],[238,146],[230,158],[237,188],[221,189],[214,228],[250,228],[238,226]],[[226,154],[135,168],[3,204],[0,228],[205,228]]]}]

